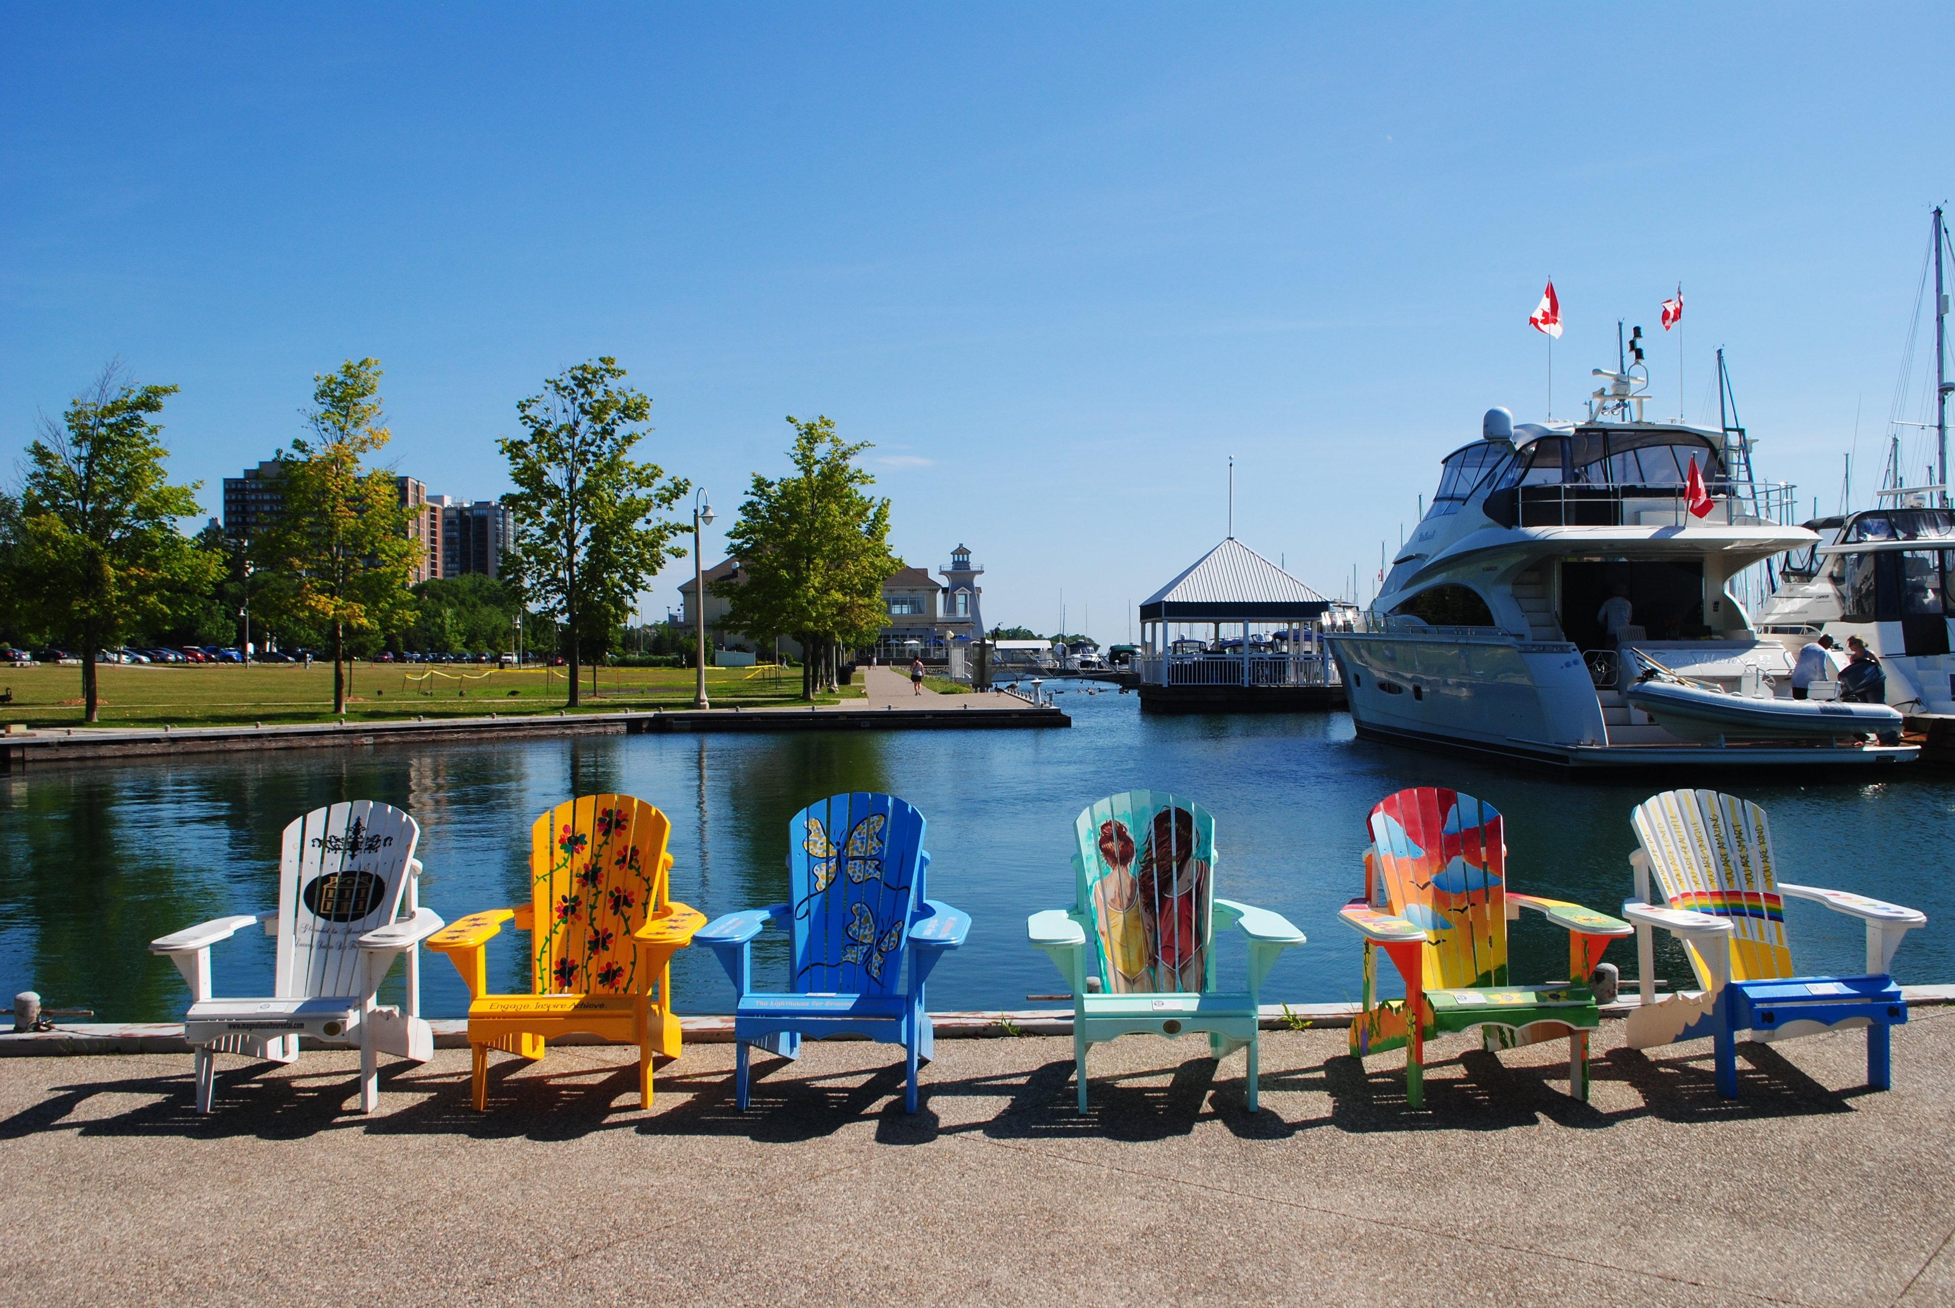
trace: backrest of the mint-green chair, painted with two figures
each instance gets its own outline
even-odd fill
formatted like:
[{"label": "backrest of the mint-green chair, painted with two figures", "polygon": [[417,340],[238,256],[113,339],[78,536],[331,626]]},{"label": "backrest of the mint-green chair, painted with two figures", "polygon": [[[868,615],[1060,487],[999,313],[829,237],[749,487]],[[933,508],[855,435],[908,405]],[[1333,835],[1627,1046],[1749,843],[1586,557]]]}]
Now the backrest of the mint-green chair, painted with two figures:
[{"label": "backrest of the mint-green chair, painted with two figures", "polygon": [[1079,909],[1108,993],[1214,987],[1216,821],[1165,790],[1107,796],[1073,823]]}]

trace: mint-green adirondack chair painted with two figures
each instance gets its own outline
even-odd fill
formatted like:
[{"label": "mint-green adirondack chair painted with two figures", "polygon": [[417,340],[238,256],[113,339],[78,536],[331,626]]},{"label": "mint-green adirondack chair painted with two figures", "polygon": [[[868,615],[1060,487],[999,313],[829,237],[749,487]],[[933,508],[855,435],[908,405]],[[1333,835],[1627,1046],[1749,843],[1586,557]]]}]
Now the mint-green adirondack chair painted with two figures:
[{"label": "mint-green adirondack chair painted with two figures", "polygon": [[[1277,956],[1304,942],[1282,915],[1214,894],[1216,819],[1165,790],[1128,790],[1073,821],[1071,909],[1032,913],[1026,935],[1073,987],[1073,1062],[1087,1111],[1087,1050],[1150,1032],[1206,1034],[1216,1058],[1249,1050],[1257,1109],[1259,991]],[[1214,925],[1249,944],[1249,985],[1216,989]]]}]

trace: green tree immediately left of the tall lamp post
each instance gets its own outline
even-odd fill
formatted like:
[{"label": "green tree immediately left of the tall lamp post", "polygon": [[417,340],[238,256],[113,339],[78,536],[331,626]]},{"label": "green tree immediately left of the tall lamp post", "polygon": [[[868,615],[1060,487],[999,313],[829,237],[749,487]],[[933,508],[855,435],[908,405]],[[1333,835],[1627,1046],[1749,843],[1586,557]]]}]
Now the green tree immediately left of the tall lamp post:
[{"label": "green tree immediately left of the tall lamp post", "polygon": [[516,405],[524,436],[500,440],[516,491],[502,497],[516,516],[510,579],[538,612],[563,622],[557,643],[569,659],[569,704],[577,708],[577,667],[588,635],[608,633],[669,559],[680,524],[653,514],[678,502],[690,483],[657,463],[637,463],[651,399],[618,385],[626,370],[604,356],[543,381],[543,393]]}]

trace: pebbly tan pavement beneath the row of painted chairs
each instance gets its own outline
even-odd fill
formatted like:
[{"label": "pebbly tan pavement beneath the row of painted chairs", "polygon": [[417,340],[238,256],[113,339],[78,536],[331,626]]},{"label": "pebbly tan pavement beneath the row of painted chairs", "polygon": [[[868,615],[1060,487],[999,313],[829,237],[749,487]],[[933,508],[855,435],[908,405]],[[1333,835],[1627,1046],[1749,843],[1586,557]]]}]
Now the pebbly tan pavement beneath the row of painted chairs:
[{"label": "pebbly tan pavement beneath the row of painted chairs", "polygon": [[1955,1009],[1894,1032],[1894,1089],[1861,1036],[1709,1044],[1650,1060],[1609,1023],[1593,1101],[1564,1044],[1435,1046],[1427,1112],[1394,1056],[1269,1032],[1093,1052],[946,1040],[925,1103],[862,1042],[757,1056],[733,1111],[725,1044],[688,1046],[635,1109],[631,1052],[465,1052],[389,1064],[381,1111],[350,1054],[221,1058],[217,1114],[188,1056],[0,1060],[10,1302],[55,1304],[1949,1304]]}]

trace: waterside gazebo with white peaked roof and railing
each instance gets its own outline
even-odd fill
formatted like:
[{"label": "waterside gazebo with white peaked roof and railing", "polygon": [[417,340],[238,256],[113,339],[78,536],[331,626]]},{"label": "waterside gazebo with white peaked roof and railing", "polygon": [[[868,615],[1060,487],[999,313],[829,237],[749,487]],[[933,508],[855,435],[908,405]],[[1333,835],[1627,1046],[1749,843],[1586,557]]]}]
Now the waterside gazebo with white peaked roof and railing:
[{"label": "waterside gazebo with white peaked roof and railing", "polygon": [[[1140,606],[1142,708],[1335,706],[1343,688],[1312,628],[1327,608],[1329,600],[1302,581],[1224,538]],[[1189,628],[1208,632],[1187,639]],[[1236,639],[1226,639],[1224,628],[1238,628]]]}]

